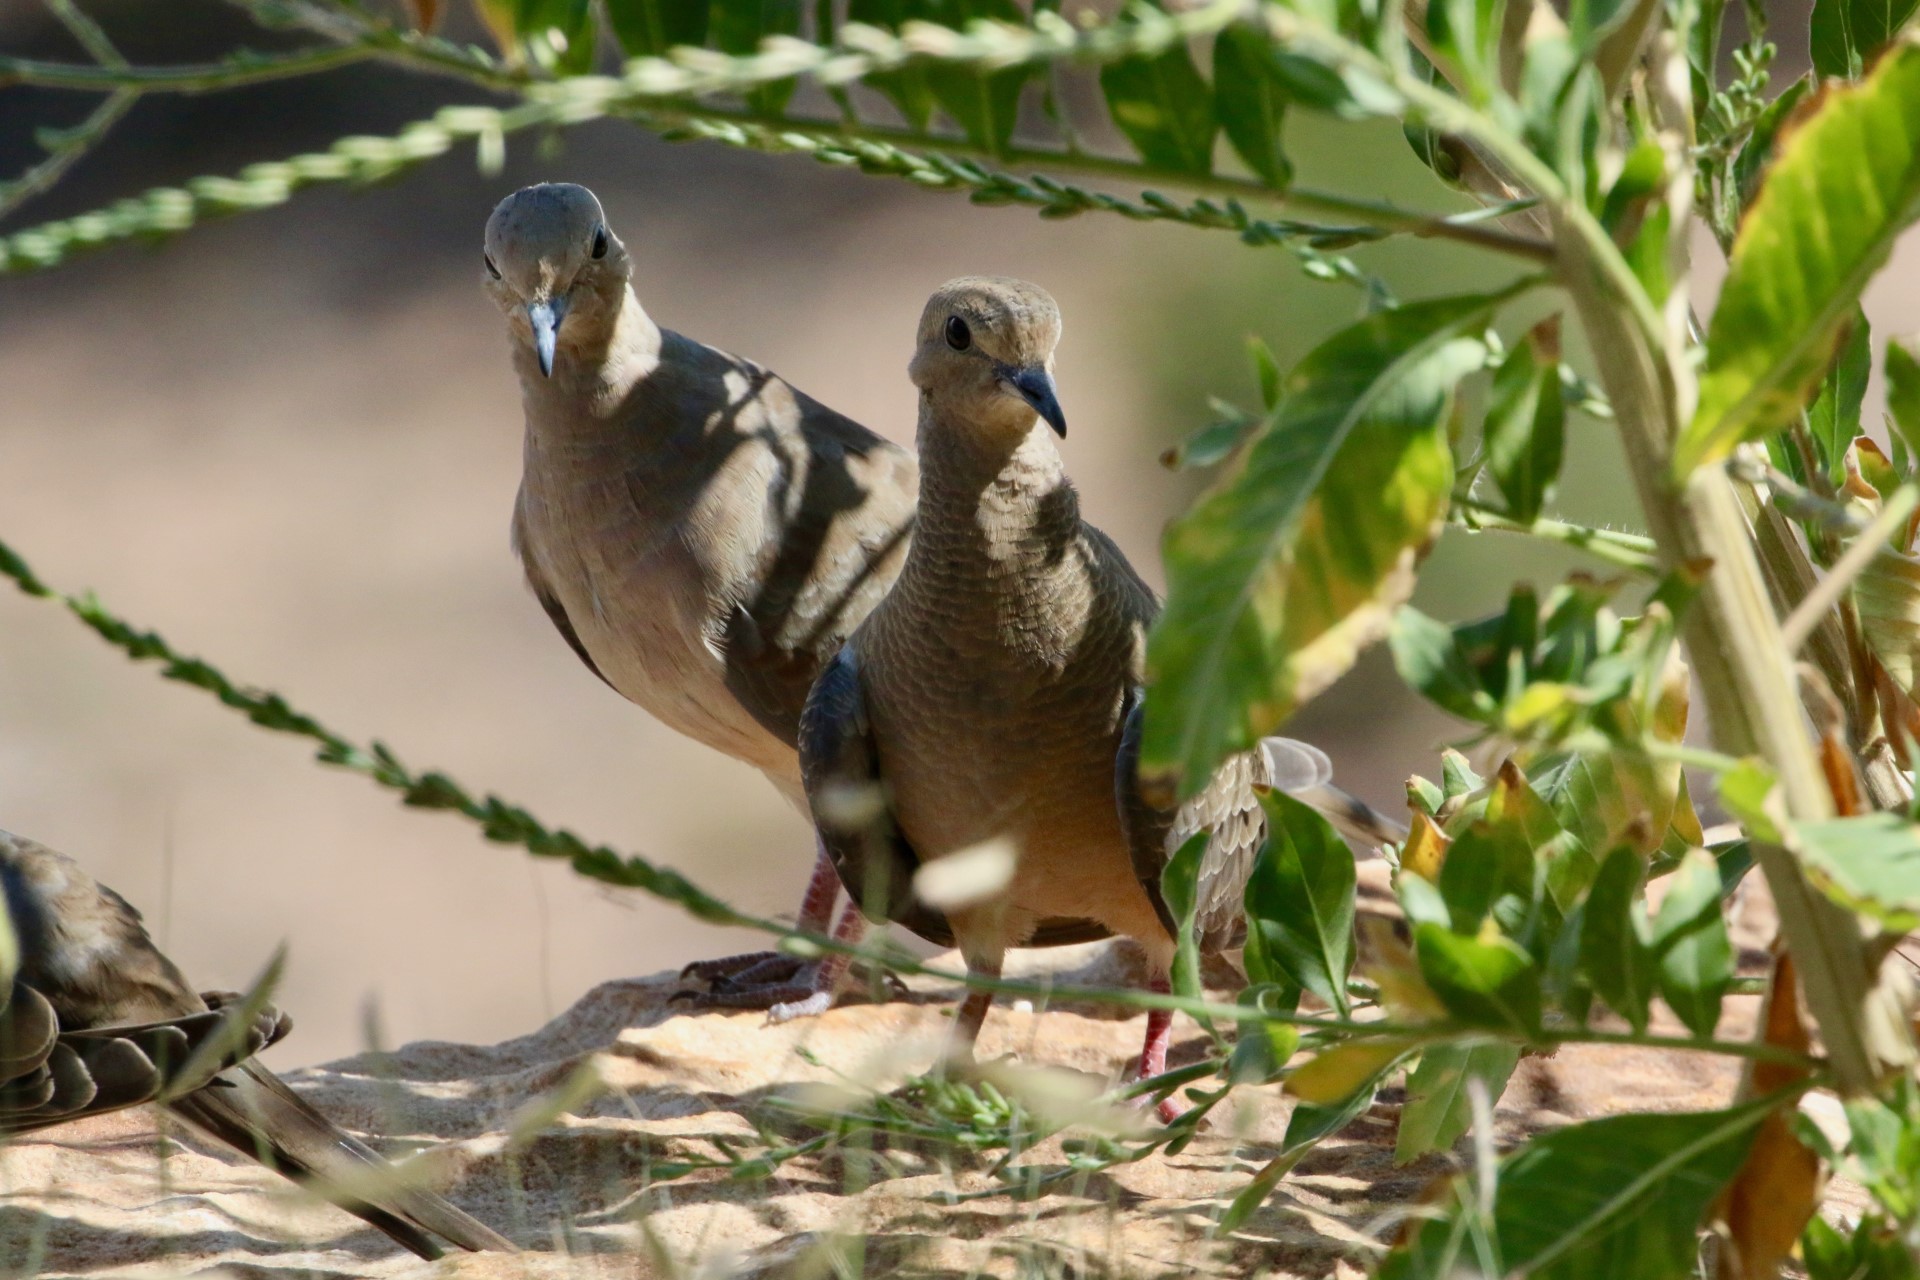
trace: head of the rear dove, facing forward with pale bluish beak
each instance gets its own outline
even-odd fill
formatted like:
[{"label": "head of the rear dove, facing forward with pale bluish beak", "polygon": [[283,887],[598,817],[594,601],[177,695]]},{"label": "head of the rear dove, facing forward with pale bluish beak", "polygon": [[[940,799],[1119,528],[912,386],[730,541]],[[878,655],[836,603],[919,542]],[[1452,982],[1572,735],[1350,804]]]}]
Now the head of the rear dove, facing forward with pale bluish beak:
[{"label": "head of the rear dove, facing forward with pale bluish beak", "polygon": [[628,271],[626,246],[584,186],[522,186],[486,221],[486,290],[549,378],[561,347],[605,345]]}]

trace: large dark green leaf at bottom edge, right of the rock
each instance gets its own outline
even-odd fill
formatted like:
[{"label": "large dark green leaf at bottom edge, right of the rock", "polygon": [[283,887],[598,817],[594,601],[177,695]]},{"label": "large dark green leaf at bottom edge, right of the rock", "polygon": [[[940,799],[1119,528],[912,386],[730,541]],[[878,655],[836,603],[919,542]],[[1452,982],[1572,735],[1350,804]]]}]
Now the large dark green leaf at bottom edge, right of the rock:
[{"label": "large dark green leaf at bottom edge, right of the rock", "polygon": [[[1728,1111],[1615,1115],[1534,1138],[1500,1163],[1492,1190],[1455,1184],[1440,1217],[1388,1255],[1382,1280],[1459,1274],[1592,1280],[1692,1276],[1707,1207],[1747,1159],[1761,1121],[1780,1105],[1763,1098]],[[1498,1265],[1471,1267],[1459,1251],[1463,1219],[1492,1199],[1482,1245]]]}]

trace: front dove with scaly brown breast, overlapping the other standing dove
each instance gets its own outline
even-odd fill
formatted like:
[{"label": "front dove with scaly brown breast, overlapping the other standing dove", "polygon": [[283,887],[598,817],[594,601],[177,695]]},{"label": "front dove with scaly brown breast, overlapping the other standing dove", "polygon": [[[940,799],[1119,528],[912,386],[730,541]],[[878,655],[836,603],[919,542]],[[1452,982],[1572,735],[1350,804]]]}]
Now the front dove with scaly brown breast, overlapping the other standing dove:
[{"label": "front dove with scaly brown breast, overlapping the other standing dove", "polygon": [[[1165,992],[1175,938],[1160,873],[1187,835],[1212,831],[1198,931],[1221,950],[1265,837],[1256,787],[1296,791],[1375,841],[1396,831],[1329,785],[1319,750],[1288,739],[1229,758],[1175,814],[1146,802],[1139,723],[1160,603],[1081,520],[1054,443],[1066,438],[1058,340],[1060,311],[1033,284],[968,276],[927,301],[908,367],[920,388],[914,541],[814,685],[801,766],[822,844],[876,919],[956,946],[981,977],[998,977],[1041,921],[1079,921],[1135,938],[1150,988]],[[995,846],[1014,858],[991,892],[958,904],[916,892],[924,867]],[[972,1055],[991,1002],[962,1002],[952,1057]],[[1140,1077],[1165,1069],[1169,1029],[1167,1011],[1148,1013]]]}]

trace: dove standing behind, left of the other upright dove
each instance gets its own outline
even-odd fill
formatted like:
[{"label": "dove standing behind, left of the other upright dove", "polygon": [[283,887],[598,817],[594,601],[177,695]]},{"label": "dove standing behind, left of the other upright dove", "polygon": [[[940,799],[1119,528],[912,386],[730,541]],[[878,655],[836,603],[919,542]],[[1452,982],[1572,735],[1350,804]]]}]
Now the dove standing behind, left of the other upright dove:
[{"label": "dove standing behind, left of the other upright dove", "polygon": [[[655,324],[584,186],[507,196],[484,267],[526,411],[513,545],[534,597],[609,687],[756,768],[804,814],[801,706],[899,572],[914,455]],[[822,854],[797,923],[826,933],[837,896]],[[835,936],[862,927],[849,908]],[[710,979],[722,1006],[831,1000],[841,961],[797,969],[762,952],[687,975]]]}]

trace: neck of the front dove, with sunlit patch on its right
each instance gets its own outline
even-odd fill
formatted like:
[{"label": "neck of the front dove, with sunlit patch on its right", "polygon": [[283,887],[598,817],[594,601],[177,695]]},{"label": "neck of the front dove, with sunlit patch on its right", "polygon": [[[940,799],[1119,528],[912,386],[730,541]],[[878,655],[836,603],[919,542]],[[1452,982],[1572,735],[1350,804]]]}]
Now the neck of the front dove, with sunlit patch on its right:
[{"label": "neck of the front dove, with sunlit patch on its right", "polygon": [[1025,434],[981,430],[929,401],[920,409],[920,516],[908,568],[1044,576],[1079,537],[1079,493],[1037,418]]}]

